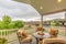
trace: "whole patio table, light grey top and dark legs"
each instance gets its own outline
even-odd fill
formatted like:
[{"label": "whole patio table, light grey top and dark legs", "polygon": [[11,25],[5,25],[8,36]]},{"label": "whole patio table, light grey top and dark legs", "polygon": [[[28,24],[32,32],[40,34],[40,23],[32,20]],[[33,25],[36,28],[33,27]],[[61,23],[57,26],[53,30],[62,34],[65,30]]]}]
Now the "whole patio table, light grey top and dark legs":
[{"label": "whole patio table, light grey top and dark legs", "polygon": [[36,44],[38,44],[40,43],[38,41],[42,41],[43,38],[51,37],[51,35],[46,32],[43,32],[44,35],[38,35],[37,33],[38,32],[33,33],[33,36],[36,38]]}]

